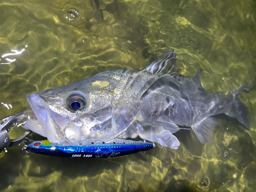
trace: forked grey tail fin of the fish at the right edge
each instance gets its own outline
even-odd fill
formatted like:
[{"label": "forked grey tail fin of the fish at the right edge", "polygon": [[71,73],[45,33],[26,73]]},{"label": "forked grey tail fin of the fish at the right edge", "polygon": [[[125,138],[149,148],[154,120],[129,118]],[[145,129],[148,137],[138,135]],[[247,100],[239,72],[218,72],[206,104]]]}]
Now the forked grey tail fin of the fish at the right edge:
[{"label": "forked grey tail fin of the fish at the right edge", "polygon": [[250,129],[250,123],[247,117],[247,109],[242,101],[238,98],[238,94],[242,91],[250,91],[255,85],[256,82],[253,83],[250,87],[242,86],[238,90],[231,91],[234,96],[234,101],[231,106],[231,110],[226,113],[230,117],[237,118],[241,123],[246,126],[248,130]]}]

